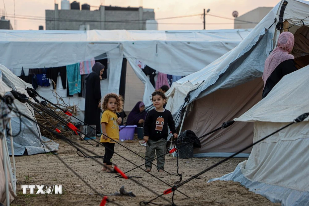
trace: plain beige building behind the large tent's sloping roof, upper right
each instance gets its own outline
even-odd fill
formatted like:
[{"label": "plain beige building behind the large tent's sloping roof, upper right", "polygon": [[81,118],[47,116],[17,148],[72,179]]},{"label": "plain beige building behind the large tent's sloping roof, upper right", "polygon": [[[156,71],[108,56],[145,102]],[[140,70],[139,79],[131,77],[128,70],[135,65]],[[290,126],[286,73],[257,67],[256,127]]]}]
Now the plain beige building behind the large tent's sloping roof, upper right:
[{"label": "plain beige building behind the large tent's sloping roof, upper right", "polygon": [[[253,29],[273,7],[258,7],[248,13],[245,13],[234,20],[234,29]],[[254,23],[244,23],[237,20],[243,20]]]}]

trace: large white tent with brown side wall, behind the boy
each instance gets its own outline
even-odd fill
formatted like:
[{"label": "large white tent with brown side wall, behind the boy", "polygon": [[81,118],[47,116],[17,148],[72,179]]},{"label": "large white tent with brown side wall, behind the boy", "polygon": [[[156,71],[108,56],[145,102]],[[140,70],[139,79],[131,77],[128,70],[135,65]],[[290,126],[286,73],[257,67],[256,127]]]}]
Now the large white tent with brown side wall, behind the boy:
[{"label": "large white tent with brown side wall, behind the boy", "polygon": [[[190,112],[187,112],[182,130],[190,129],[200,137],[242,115],[260,101],[264,63],[280,34],[276,29],[279,19],[285,31],[291,27],[289,31],[295,33],[309,25],[308,13],[308,1],[289,0],[285,4],[282,0],[237,47],[204,69],[173,83],[167,92],[166,109],[176,117],[183,105],[194,105],[192,109],[188,107]],[[277,19],[275,23],[274,19]],[[184,104],[188,94],[190,98]],[[252,138],[252,123],[237,122],[201,139],[202,147],[195,150],[195,156],[226,157],[252,142]],[[250,151],[239,157],[248,157]]]}]

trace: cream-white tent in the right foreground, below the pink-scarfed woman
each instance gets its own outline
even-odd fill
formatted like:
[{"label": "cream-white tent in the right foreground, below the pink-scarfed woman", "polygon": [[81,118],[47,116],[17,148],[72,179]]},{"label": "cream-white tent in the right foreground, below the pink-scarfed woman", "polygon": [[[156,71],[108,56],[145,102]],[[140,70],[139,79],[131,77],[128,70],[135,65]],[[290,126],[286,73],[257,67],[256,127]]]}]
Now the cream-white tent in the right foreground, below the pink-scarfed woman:
[{"label": "cream-white tent in the right foreground, below the pink-scarfed woman", "polygon": [[[309,66],[283,77],[235,121],[254,122],[253,142],[309,112]],[[214,180],[234,180],[281,205],[309,205],[309,118],[253,146],[249,159]],[[212,181],[212,180],[211,180]]]}]

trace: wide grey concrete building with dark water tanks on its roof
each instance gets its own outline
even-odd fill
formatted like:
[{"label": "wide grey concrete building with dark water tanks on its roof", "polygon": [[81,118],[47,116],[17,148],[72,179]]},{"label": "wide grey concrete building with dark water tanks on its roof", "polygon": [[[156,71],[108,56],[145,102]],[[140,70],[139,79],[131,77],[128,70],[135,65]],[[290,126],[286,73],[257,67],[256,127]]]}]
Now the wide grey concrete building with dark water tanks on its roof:
[{"label": "wide grey concrete building with dark water tanks on its roof", "polygon": [[55,4],[55,10],[45,10],[46,30],[146,30],[146,20],[150,19],[155,19],[154,9],[143,7],[100,6],[96,11],[59,10],[58,4]]}]

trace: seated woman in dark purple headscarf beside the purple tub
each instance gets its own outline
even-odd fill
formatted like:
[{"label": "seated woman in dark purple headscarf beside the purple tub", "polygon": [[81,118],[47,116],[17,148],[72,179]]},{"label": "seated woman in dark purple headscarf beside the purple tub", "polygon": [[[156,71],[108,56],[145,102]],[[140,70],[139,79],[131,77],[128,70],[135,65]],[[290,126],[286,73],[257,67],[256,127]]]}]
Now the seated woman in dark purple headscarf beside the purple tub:
[{"label": "seated woman in dark purple headscarf beside the purple tub", "polygon": [[127,118],[126,125],[137,125],[138,127],[143,127],[146,114],[145,104],[143,102],[136,103]]}]

